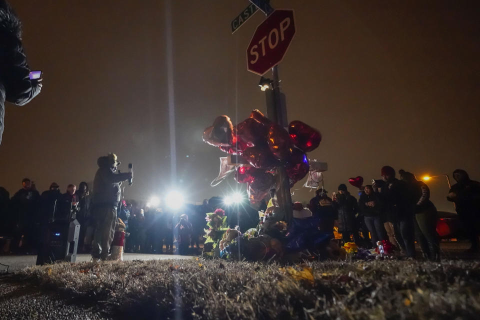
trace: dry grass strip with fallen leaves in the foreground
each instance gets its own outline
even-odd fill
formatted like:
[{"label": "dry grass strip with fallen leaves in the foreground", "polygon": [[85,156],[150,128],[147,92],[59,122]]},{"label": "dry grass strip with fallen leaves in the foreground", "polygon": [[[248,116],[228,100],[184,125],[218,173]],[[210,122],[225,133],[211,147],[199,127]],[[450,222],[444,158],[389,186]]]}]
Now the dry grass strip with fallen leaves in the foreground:
[{"label": "dry grass strip with fallen leaves in the foreground", "polygon": [[59,263],[20,275],[96,300],[115,318],[476,319],[479,265],[191,259]]}]

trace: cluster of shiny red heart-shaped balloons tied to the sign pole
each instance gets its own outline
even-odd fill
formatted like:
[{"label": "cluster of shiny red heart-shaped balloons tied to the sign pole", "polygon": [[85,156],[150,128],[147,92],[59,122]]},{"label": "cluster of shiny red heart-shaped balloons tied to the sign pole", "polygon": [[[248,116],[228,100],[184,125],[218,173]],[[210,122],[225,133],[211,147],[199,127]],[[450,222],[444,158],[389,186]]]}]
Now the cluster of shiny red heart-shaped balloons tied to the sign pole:
[{"label": "cluster of shiny red heart-shaped balloons tied to the sign pole", "polygon": [[310,168],[306,152],[321,141],[320,133],[301,121],[291,121],[288,131],[253,110],[244,121],[233,126],[220,115],[203,131],[203,141],[245,162],[236,168],[235,180],[247,183],[251,202],[261,200],[275,183],[275,168],[284,165],[290,187],[301,180]]}]

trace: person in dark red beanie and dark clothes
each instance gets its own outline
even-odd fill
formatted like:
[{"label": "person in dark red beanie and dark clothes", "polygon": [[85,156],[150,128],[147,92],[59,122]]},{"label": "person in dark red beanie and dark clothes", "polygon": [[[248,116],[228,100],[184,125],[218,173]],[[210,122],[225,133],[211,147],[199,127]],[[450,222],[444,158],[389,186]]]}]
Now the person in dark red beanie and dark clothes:
[{"label": "person in dark red beanie and dark clothes", "polygon": [[414,210],[415,201],[408,184],[395,178],[395,170],[385,165],[380,170],[385,185],[380,190],[384,217],[393,225],[395,239],[400,248],[410,258],[415,257]]}]

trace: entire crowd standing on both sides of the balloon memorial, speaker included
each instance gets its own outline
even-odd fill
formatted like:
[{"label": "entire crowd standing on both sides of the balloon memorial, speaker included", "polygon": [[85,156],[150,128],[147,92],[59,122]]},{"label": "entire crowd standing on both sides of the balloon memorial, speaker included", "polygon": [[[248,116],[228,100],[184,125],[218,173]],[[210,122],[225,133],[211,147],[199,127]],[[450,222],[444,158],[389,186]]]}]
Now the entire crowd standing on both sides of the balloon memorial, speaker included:
[{"label": "entire crowd standing on both sides of the balloon memorial, speaker included", "polygon": [[[109,181],[108,189],[119,184],[119,181],[112,181],[130,177],[115,172],[119,162],[114,154],[100,157],[98,163],[100,173],[97,172],[94,185],[99,190],[105,189],[100,178]],[[106,172],[113,178],[102,172],[102,168],[107,168]],[[438,260],[437,211],[429,198],[427,184],[404,170],[398,171],[398,179],[390,166],[382,167],[380,173],[382,179],[361,187],[358,200],[348,192],[345,184],[340,184],[331,197],[325,189],[317,189],[306,207],[299,202],[292,204],[293,218],[316,216],[318,228],[323,232],[333,237],[336,227],[343,242],[354,241],[363,247],[375,247],[377,241],[388,240],[411,258],[415,257],[416,240],[425,258]],[[463,234],[471,241],[470,251],[478,252],[480,183],[471,180],[460,169],[453,172],[453,177],[457,183],[451,186],[447,199],[455,203]],[[86,182],[80,182],[78,189],[69,184],[64,193],[52,182],[48,190],[39,194],[35,183],[24,178],[22,188],[11,198],[0,188],[0,220],[3,221],[0,235],[13,239],[11,249],[14,252],[35,253],[49,222],[76,217],[80,223],[78,251],[106,258],[112,230],[121,221],[127,235],[125,252],[173,253],[176,250],[179,254],[189,254],[197,253],[200,248],[207,212],[226,208],[227,214],[230,212],[230,227],[240,225],[243,232],[258,224],[257,209],[271,212],[278,206],[275,189],[271,190],[268,203],[264,199],[260,208],[244,209],[244,212],[239,212],[238,208],[229,211],[218,197],[205,199],[201,205],[185,204],[181,210],[168,210],[120,200],[119,188],[111,194],[91,192]]]}]

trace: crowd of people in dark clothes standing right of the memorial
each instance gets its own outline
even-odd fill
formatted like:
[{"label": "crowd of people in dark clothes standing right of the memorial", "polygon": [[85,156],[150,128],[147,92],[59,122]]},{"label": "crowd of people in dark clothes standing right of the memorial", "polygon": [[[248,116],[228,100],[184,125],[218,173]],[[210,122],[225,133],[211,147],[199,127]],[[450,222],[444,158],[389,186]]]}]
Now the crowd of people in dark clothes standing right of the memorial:
[{"label": "crowd of people in dark clothes standing right of the memorial", "polygon": [[[318,189],[309,208],[320,218],[325,230],[331,230],[336,221],[344,242],[352,239],[358,245],[375,247],[378,240],[388,240],[406,256],[414,258],[416,240],[425,258],[438,260],[438,216],[428,185],[411,172],[400,169],[400,179],[395,173],[391,166],[383,166],[382,179],[362,186],[358,201],[345,184],[340,184],[338,193],[333,192],[331,198],[326,190]],[[451,186],[446,197],[455,203],[462,222],[461,232],[471,241],[469,251],[478,252],[480,183],[471,180],[461,169],[453,171],[453,178],[457,183]],[[371,244],[366,242],[367,232]]]}]

